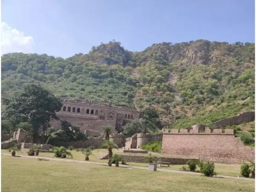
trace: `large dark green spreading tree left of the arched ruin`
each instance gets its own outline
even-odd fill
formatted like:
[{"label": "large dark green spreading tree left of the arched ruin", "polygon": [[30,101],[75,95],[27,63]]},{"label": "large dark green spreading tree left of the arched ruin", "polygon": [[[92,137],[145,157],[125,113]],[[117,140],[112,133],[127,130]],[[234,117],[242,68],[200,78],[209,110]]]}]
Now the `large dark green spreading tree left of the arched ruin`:
[{"label": "large dark green spreading tree left of the arched ruin", "polygon": [[20,122],[29,122],[32,125],[34,143],[38,142],[39,128],[49,127],[51,119],[58,120],[56,112],[62,107],[60,99],[36,84],[24,85],[22,90],[14,93],[10,99],[5,99],[4,104],[5,119],[19,119]]}]

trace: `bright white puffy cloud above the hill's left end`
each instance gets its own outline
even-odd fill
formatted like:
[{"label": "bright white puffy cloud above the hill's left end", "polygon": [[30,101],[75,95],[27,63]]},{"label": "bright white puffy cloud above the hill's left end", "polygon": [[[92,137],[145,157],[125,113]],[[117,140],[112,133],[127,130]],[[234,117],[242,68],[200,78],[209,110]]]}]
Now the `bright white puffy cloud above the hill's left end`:
[{"label": "bright white puffy cloud above the hill's left end", "polygon": [[22,31],[11,28],[7,23],[1,23],[1,54],[23,52],[33,53],[35,42],[33,37],[25,36]]}]

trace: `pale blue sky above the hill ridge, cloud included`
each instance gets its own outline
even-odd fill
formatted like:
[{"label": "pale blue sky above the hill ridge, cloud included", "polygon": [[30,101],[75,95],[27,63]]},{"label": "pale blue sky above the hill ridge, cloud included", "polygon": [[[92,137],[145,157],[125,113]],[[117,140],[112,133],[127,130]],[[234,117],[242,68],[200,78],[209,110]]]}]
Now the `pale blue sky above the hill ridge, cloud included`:
[{"label": "pale blue sky above the hill ridge, cloud included", "polygon": [[111,40],[255,42],[254,0],[2,0],[1,54],[87,54]]}]

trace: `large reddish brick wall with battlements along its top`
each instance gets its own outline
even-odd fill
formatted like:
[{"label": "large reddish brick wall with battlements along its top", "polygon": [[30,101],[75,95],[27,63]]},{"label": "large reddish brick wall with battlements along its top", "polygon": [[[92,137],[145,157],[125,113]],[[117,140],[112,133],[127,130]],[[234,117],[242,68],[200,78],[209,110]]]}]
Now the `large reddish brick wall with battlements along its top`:
[{"label": "large reddish brick wall with battlements along its top", "polygon": [[218,130],[213,130],[213,133],[209,128],[206,133],[163,133],[162,152],[214,161],[218,158],[254,160],[254,147],[244,146],[241,139],[233,135],[233,130],[225,130],[226,133],[219,133]]}]

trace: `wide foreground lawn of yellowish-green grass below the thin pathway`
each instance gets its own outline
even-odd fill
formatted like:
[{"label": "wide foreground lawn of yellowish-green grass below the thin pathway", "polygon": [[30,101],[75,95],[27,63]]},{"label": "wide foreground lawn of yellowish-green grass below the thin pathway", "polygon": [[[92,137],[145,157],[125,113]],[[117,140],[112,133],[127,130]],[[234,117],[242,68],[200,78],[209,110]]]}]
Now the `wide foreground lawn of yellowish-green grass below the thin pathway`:
[{"label": "wide foreground lawn of yellowish-green grass below the thin pathway", "polygon": [[254,192],[254,181],[2,155],[2,192]]}]

